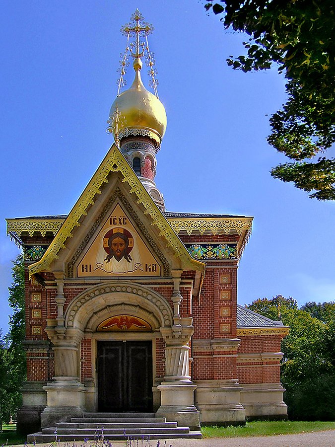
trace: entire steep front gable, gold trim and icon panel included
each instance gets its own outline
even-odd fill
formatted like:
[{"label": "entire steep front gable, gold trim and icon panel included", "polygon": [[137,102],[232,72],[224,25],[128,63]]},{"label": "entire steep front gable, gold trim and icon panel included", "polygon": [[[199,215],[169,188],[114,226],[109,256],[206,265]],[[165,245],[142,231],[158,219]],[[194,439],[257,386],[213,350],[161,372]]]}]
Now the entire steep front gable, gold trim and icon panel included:
[{"label": "entire steep front gable, gold trim and icon panel included", "polygon": [[170,267],[204,271],[204,264],[190,256],[113,145],[43,258],[29,267],[29,274],[169,276]]}]

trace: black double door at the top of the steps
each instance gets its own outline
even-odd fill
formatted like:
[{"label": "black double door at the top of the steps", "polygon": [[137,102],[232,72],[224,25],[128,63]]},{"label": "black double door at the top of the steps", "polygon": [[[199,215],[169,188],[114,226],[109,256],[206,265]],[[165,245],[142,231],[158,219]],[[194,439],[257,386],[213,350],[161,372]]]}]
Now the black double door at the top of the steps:
[{"label": "black double door at the top of the steps", "polygon": [[98,342],[98,411],[152,411],[152,341]]}]

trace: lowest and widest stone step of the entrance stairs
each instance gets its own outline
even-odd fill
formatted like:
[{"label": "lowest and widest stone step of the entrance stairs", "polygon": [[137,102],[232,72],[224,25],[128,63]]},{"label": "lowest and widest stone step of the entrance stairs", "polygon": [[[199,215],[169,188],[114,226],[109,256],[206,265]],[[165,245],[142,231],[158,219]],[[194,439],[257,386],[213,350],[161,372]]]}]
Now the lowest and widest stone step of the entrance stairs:
[{"label": "lowest and widest stone step of the entrance stairs", "polygon": [[[160,433],[160,434],[152,434],[152,435],[144,435],[144,440],[147,439],[201,439],[201,432],[200,431],[194,431],[189,433]],[[57,439],[59,439],[61,442],[72,442],[72,441],[84,441],[84,440],[97,440],[94,436],[87,436],[87,435],[61,435],[57,436]],[[131,435],[131,439],[143,439],[142,434],[134,434]],[[128,440],[127,435],[110,435],[108,437],[104,437],[104,441],[125,441]],[[28,443],[53,443],[55,441],[55,435],[43,435],[40,433],[33,433],[32,435],[27,436],[27,442]]]}]

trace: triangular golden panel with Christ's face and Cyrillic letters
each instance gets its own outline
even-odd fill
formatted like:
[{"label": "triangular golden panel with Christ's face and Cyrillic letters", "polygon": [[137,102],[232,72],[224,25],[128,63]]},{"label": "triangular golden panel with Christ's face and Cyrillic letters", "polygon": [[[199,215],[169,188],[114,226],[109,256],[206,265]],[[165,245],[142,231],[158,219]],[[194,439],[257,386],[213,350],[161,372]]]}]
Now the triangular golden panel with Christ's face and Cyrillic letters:
[{"label": "triangular golden panel with Christ's face and Cyrillic letters", "polygon": [[160,269],[118,204],[77,265],[77,276],[160,276]]}]

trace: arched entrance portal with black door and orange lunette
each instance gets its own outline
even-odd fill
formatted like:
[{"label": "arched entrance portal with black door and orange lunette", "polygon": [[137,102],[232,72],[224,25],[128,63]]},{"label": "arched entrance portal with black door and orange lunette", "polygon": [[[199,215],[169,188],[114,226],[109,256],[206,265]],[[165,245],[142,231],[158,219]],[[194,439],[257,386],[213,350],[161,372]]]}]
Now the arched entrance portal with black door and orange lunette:
[{"label": "arched entrance portal with black door and orange lunette", "polygon": [[153,398],[156,339],[172,321],[165,298],[134,283],[95,287],[70,303],[67,327],[80,329],[91,346],[93,386],[85,393],[86,408],[99,412],[157,409],[157,389]]}]

